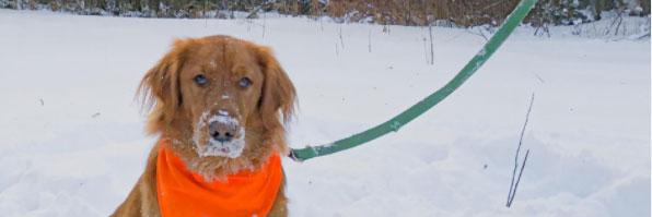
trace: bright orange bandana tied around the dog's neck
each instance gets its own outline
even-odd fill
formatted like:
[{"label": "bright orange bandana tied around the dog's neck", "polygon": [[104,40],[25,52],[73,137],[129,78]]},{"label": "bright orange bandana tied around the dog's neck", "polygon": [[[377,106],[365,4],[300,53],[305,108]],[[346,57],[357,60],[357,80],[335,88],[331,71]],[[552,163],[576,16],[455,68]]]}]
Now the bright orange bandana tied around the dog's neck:
[{"label": "bright orange bandana tied around the dog's neck", "polygon": [[283,177],[278,154],[257,171],[243,170],[226,180],[207,182],[189,171],[166,143],[161,141],[156,161],[161,216],[267,216]]}]

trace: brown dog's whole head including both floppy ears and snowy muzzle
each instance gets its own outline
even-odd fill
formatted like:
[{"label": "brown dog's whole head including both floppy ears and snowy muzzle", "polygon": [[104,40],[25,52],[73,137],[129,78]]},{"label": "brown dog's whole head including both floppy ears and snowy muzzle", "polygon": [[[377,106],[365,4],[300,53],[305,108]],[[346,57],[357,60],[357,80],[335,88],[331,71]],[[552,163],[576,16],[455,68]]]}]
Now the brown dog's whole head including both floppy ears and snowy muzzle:
[{"label": "brown dog's whole head including both floppy ears and snowy muzzle", "polygon": [[228,36],[176,40],[139,93],[154,105],[149,132],[182,141],[196,157],[287,150],[295,92],[266,47]]}]

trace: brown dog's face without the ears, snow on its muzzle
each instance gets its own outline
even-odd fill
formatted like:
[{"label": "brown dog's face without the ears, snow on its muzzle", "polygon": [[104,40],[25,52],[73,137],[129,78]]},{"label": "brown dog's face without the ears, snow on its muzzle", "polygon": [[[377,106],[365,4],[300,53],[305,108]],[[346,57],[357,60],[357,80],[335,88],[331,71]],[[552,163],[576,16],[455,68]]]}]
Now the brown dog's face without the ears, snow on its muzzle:
[{"label": "brown dog's face without the ears, snow on its muzzle", "polygon": [[238,157],[247,121],[258,118],[265,76],[254,50],[243,44],[212,43],[187,53],[179,71],[182,106],[193,120],[193,142],[203,156]]}]

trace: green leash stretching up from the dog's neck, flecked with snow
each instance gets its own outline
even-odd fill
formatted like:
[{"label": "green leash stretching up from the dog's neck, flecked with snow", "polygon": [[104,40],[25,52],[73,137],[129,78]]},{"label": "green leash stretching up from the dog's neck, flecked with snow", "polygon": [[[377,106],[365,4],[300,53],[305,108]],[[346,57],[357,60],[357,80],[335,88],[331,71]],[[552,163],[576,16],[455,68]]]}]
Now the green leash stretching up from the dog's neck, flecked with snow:
[{"label": "green leash stretching up from the dog's neck, flecked with snow", "polygon": [[462,71],[453,77],[445,86],[438,89],[435,93],[426,97],[423,100],[417,103],[412,107],[403,111],[398,116],[389,119],[388,121],[369,129],[364,132],[351,135],[349,137],[335,141],[330,144],[319,146],[306,146],[304,148],[294,149],[290,152],[290,158],[296,161],[303,161],[314,157],[329,155],[333,153],[349,149],[351,147],[359,146],[380,136],[383,136],[389,132],[396,132],[400,126],[407,124],[411,120],[421,116],[428,109],[434,107],[436,104],[446,98],[457,87],[459,87],[470,75],[473,75],[486,61],[496,52],[496,50],[502,45],[502,43],[512,34],[514,28],[523,21],[525,15],[532,10],[537,0],[522,0],[516,9],[510,13],[502,26],[496,32],[496,34],[485,44],[485,47],[468,62]]}]

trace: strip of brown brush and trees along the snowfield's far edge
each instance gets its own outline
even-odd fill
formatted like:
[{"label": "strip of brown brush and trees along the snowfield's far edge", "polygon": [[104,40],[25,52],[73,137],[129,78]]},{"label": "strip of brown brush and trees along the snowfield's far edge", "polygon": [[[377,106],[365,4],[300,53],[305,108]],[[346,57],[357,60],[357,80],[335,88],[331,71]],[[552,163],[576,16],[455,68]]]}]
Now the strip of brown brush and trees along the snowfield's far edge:
[{"label": "strip of brown brush and trees along the snowfield's far edge", "polygon": [[[497,26],[519,0],[0,0],[0,8],[84,15],[247,19],[260,12],[383,25]],[[543,0],[525,23],[577,25],[624,15],[647,16],[649,0]],[[649,25],[649,24],[648,24]]]}]

